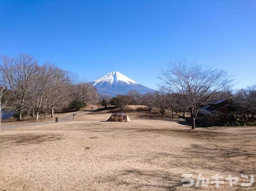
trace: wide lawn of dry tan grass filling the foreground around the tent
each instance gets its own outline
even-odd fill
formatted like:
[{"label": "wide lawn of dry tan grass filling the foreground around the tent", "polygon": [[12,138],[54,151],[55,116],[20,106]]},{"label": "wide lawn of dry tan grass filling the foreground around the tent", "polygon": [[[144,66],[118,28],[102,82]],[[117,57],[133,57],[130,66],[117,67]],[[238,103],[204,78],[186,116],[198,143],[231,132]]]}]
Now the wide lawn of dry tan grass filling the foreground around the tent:
[{"label": "wide lawn of dry tan grass filling the foreground around the tent", "polygon": [[[256,128],[191,130],[185,121],[127,107],[132,122],[105,122],[101,109],[74,121],[6,129],[0,135],[0,191],[195,190],[183,173],[224,184],[198,190],[254,190],[242,174],[256,174]],[[138,111],[140,110],[140,111]],[[169,115],[169,114],[168,114]],[[229,187],[228,175],[239,182]],[[211,179],[212,180],[212,179]],[[255,182],[255,178],[254,178]]]}]

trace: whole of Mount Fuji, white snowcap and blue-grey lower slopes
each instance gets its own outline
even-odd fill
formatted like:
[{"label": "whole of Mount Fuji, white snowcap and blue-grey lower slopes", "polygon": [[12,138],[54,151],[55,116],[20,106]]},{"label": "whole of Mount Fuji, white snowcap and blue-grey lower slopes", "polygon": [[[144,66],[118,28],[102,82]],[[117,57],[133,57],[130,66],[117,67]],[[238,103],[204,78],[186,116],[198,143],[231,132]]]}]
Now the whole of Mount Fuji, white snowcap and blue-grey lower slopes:
[{"label": "whole of Mount Fuji, white snowcap and blue-grey lower slopes", "polygon": [[109,72],[105,76],[92,81],[91,84],[100,94],[110,96],[116,96],[117,94],[125,95],[130,90],[137,90],[141,94],[155,91],[138,84],[120,72]]}]

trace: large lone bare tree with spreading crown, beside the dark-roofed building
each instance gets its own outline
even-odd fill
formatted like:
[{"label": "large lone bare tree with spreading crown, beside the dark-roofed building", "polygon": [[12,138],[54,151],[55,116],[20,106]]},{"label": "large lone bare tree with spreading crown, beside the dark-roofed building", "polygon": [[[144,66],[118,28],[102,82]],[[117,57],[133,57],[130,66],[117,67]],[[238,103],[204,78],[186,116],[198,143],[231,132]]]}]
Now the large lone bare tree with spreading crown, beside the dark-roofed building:
[{"label": "large lone bare tree with spreading crown, beside the dark-roofed building", "polygon": [[233,85],[226,71],[188,63],[186,60],[170,62],[167,69],[162,70],[160,79],[164,86],[186,100],[191,112],[192,129],[195,128],[200,106],[215,99],[217,93],[228,91]]}]

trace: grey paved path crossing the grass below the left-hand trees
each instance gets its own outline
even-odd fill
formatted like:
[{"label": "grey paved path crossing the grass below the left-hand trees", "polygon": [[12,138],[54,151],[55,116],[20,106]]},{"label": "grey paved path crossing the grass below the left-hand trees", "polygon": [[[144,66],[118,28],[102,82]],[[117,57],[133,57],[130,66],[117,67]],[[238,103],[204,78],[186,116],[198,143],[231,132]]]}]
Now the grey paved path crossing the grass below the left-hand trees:
[{"label": "grey paved path crossing the grass below the left-hand trees", "polygon": [[[88,112],[89,111],[78,111],[78,112],[70,113],[70,115],[66,115],[64,117],[58,117],[58,122],[72,121],[73,120],[73,114],[82,115],[82,114],[85,114],[85,113],[88,113]],[[43,122],[34,122],[34,123],[27,123],[27,124],[20,124],[20,125],[2,126],[1,129],[10,129],[10,128],[16,128],[16,127],[26,127],[26,126],[34,126],[34,125],[55,123],[55,118],[53,118],[53,119],[54,120],[52,120],[52,121],[43,121]]]}]

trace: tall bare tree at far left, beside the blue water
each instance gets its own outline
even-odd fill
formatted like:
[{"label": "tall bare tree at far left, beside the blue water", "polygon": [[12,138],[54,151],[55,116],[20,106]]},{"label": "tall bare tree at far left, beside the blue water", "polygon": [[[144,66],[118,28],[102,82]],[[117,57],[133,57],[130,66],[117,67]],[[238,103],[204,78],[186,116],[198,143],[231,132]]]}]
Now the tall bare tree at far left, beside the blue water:
[{"label": "tall bare tree at far left, beside the blue water", "polygon": [[18,113],[17,121],[21,121],[31,104],[30,95],[34,93],[31,87],[37,69],[37,61],[29,55],[20,54],[17,59],[2,57],[0,72],[11,93],[9,104]]}]

